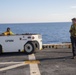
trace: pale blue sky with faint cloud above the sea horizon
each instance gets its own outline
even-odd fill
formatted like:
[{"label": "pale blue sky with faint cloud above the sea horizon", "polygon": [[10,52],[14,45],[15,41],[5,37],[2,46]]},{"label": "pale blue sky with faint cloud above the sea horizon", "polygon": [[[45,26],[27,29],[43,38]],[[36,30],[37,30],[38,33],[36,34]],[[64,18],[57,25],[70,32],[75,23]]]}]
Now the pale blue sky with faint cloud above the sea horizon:
[{"label": "pale blue sky with faint cloud above the sea horizon", "polygon": [[0,23],[70,22],[76,0],[0,0]]}]

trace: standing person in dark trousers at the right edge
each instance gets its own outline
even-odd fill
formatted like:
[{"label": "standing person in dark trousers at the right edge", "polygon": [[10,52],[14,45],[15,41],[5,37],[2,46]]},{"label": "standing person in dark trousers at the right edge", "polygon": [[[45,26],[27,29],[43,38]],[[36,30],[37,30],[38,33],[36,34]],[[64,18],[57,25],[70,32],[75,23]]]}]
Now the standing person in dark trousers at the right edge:
[{"label": "standing person in dark trousers at the right edge", "polygon": [[70,35],[71,35],[71,43],[72,43],[72,53],[73,53],[73,57],[72,59],[74,59],[74,57],[76,56],[76,18],[72,19],[72,25],[70,27]]}]

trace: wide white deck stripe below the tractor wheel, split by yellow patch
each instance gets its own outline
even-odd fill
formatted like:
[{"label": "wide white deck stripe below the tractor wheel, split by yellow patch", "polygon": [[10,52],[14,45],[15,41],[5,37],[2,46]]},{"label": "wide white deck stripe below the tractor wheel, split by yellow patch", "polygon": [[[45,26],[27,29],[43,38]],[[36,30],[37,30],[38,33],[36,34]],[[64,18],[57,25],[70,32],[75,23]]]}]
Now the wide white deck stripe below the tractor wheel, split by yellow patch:
[{"label": "wide white deck stripe below the tractor wheel, split by yellow patch", "polygon": [[[35,55],[29,55],[29,60],[36,60]],[[29,64],[30,65],[30,75],[41,75],[37,63]]]}]

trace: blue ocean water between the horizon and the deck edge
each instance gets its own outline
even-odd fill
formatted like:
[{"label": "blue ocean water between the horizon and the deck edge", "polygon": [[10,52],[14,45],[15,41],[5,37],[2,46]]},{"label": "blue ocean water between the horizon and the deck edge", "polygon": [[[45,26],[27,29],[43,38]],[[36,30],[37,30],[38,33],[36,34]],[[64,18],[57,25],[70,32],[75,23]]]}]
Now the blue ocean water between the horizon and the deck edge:
[{"label": "blue ocean water between the horizon and the deck edge", "polygon": [[42,35],[43,44],[70,42],[71,22],[57,23],[19,23],[0,24],[0,33],[10,27],[15,34],[38,33]]}]

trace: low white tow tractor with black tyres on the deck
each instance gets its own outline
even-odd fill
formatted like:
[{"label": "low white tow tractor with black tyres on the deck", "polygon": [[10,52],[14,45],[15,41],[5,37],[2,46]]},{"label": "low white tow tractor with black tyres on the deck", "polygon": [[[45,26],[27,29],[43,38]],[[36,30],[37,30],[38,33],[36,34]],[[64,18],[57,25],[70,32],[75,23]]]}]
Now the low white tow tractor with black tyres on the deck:
[{"label": "low white tow tractor with black tyres on the deck", "polygon": [[33,53],[42,49],[42,36],[40,34],[0,35],[0,54],[4,52]]}]

